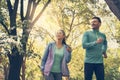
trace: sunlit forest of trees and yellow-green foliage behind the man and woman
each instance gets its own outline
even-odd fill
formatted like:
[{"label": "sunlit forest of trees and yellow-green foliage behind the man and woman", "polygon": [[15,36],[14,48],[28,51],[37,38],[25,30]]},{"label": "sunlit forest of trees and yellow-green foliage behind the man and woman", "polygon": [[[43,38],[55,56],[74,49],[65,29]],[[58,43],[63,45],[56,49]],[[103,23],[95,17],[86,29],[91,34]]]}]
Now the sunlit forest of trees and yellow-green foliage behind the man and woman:
[{"label": "sunlit forest of trees and yellow-green foliage behind the man and woman", "polygon": [[0,0],[0,80],[42,80],[45,47],[60,28],[73,49],[70,78],[83,80],[81,39],[93,16],[108,41],[105,80],[120,80],[120,22],[104,0]]}]

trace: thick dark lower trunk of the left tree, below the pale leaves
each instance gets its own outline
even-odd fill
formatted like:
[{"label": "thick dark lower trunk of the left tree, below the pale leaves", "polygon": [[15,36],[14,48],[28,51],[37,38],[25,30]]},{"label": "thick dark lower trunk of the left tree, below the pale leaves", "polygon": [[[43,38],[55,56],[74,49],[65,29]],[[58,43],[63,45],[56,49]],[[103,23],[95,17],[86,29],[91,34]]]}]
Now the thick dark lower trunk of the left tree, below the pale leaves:
[{"label": "thick dark lower trunk of the left tree, below the pale leaves", "polygon": [[20,80],[20,69],[23,62],[23,57],[21,55],[10,55],[9,54],[9,76],[8,80]]}]

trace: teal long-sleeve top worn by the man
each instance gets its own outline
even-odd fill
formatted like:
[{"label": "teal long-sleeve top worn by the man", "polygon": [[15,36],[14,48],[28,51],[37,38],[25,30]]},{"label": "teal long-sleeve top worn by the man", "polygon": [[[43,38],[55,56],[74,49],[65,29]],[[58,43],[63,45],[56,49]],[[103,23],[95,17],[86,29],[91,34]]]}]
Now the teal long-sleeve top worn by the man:
[{"label": "teal long-sleeve top worn by the man", "polygon": [[[103,42],[97,44],[96,40],[102,38]],[[84,33],[82,46],[86,50],[85,63],[103,63],[103,53],[107,50],[107,40],[104,33],[91,30]]]}]

